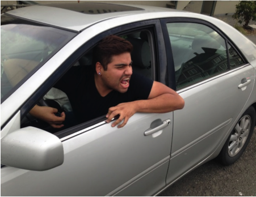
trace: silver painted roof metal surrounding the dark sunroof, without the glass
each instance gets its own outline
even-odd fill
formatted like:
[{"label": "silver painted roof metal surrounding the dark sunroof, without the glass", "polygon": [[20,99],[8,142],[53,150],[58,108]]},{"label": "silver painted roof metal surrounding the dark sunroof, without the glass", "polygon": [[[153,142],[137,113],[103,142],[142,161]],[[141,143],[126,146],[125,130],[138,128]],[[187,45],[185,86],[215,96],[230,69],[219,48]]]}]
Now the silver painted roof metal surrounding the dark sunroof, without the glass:
[{"label": "silver painted roof metal surrounding the dark sunroof, without the glass", "polygon": [[[83,3],[80,3],[79,6],[82,6],[82,5]],[[127,6],[131,6],[131,5],[127,5]],[[140,7],[140,6],[135,6],[135,7]],[[90,15],[90,14],[83,14],[80,12],[65,10],[58,7],[51,7],[51,5],[50,6],[36,5],[36,6],[24,7],[22,9],[12,10],[8,12],[8,14],[11,14],[20,18],[25,18],[25,19],[27,18],[30,20],[34,20],[36,22],[49,24],[56,27],[60,27],[60,28],[70,29],[72,31],[82,31],[83,29],[90,27],[93,24],[96,24],[111,18],[126,16],[126,15],[141,15],[145,13],[154,13],[158,11],[162,11],[162,12],[168,11],[165,8],[159,8],[159,7],[145,6],[141,8],[147,8],[147,10],[111,12],[106,14]],[[45,14],[45,12],[47,12],[47,15]],[[176,12],[176,11],[173,10],[173,12]],[[151,17],[151,18],[154,18],[154,17]]]}]

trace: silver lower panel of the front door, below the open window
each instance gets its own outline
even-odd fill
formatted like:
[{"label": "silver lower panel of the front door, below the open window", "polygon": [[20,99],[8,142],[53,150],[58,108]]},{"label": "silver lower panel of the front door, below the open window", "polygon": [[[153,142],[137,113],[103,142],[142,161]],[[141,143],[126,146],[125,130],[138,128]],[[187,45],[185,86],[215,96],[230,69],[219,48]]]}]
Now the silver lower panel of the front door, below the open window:
[{"label": "silver lower panel of the front door, below the open window", "polygon": [[[65,138],[62,142],[65,154],[64,164],[57,168],[44,172],[15,169],[9,166],[1,169],[1,195],[103,196],[121,185],[123,188],[120,190],[129,187],[131,179],[135,182],[150,172],[151,176],[157,173],[155,175],[161,177],[161,186],[164,186],[173,127],[167,126],[159,131],[160,135],[156,137],[144,136],[144,131],[149,129],[150,123],[156,119],[164,121],[173,119],[172,116],[172,112],[139,113],[133,115],[129,119],[129,124],[122,129],[104,124],[73,138]],[[165,165],[162,165],[163,162]],[[163,169],[158,168],[159,165],[162,165]],[[154,170],[156,168],[158,170]],[[10,179],[9,173],[5,172],[12,170],[17,171],[15,174],[22,175]],[[162,174],[158,174],[159,170]],[[143,174],[135,178],[141,172]],[[36,177],[40,178],[36,179]],[[19,185],[20,181],[24,184]],[[15,190],[11,189],[13,185],[16,185]],[[39,185],[44,185],[41,192],[38,191]]]}]

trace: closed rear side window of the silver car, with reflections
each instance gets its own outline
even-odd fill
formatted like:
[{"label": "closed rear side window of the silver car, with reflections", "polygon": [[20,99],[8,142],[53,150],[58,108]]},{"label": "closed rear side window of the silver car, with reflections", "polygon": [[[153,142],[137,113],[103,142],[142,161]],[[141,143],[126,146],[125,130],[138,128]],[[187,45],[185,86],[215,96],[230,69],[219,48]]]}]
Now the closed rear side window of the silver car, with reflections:
[{"label": "closed rear side window of the silver car, with reflections", "polygon": [[[212,28],[196,23],[168,23],[177,89],[202,82],[241,65],[242,59]],[[228,63],[228,53],[230,66]]]}]

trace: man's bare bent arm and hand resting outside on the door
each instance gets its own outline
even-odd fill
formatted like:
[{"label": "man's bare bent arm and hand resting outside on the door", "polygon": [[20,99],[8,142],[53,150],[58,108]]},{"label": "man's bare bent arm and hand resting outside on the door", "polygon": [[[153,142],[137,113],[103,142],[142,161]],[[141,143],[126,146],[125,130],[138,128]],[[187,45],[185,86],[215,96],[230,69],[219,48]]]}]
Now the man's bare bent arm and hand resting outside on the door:
[{"label": "man's bare bent arm and hand resting outside on the door", "polygon": [[121,128],[127,124],[128,119],[136,112],[167,113],[182,109],[183,107],[184,100],[177,92],[162,83],[154,82],[148,100],[121,103],[110,108],[106,117],[108,118],[107,122],[110,122],[116,115],[120,115],[111,126],[114,127],[124,120],[124,122],[118,126],[118,128]]}]

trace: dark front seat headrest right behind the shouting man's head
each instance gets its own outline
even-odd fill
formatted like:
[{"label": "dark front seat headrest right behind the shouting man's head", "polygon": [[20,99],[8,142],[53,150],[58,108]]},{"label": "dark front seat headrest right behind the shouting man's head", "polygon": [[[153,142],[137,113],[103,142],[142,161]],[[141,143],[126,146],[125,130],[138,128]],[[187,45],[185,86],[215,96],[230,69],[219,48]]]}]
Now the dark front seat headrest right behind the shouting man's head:
[{"label": "dark front seat headrest right behind the shouting man's head", "polygon": [[127,40],[133,45],[133,52],[131,54],[133,66],[140,68],[149,67],[151,54],[148,42],[139,38],[127,38]]}]

